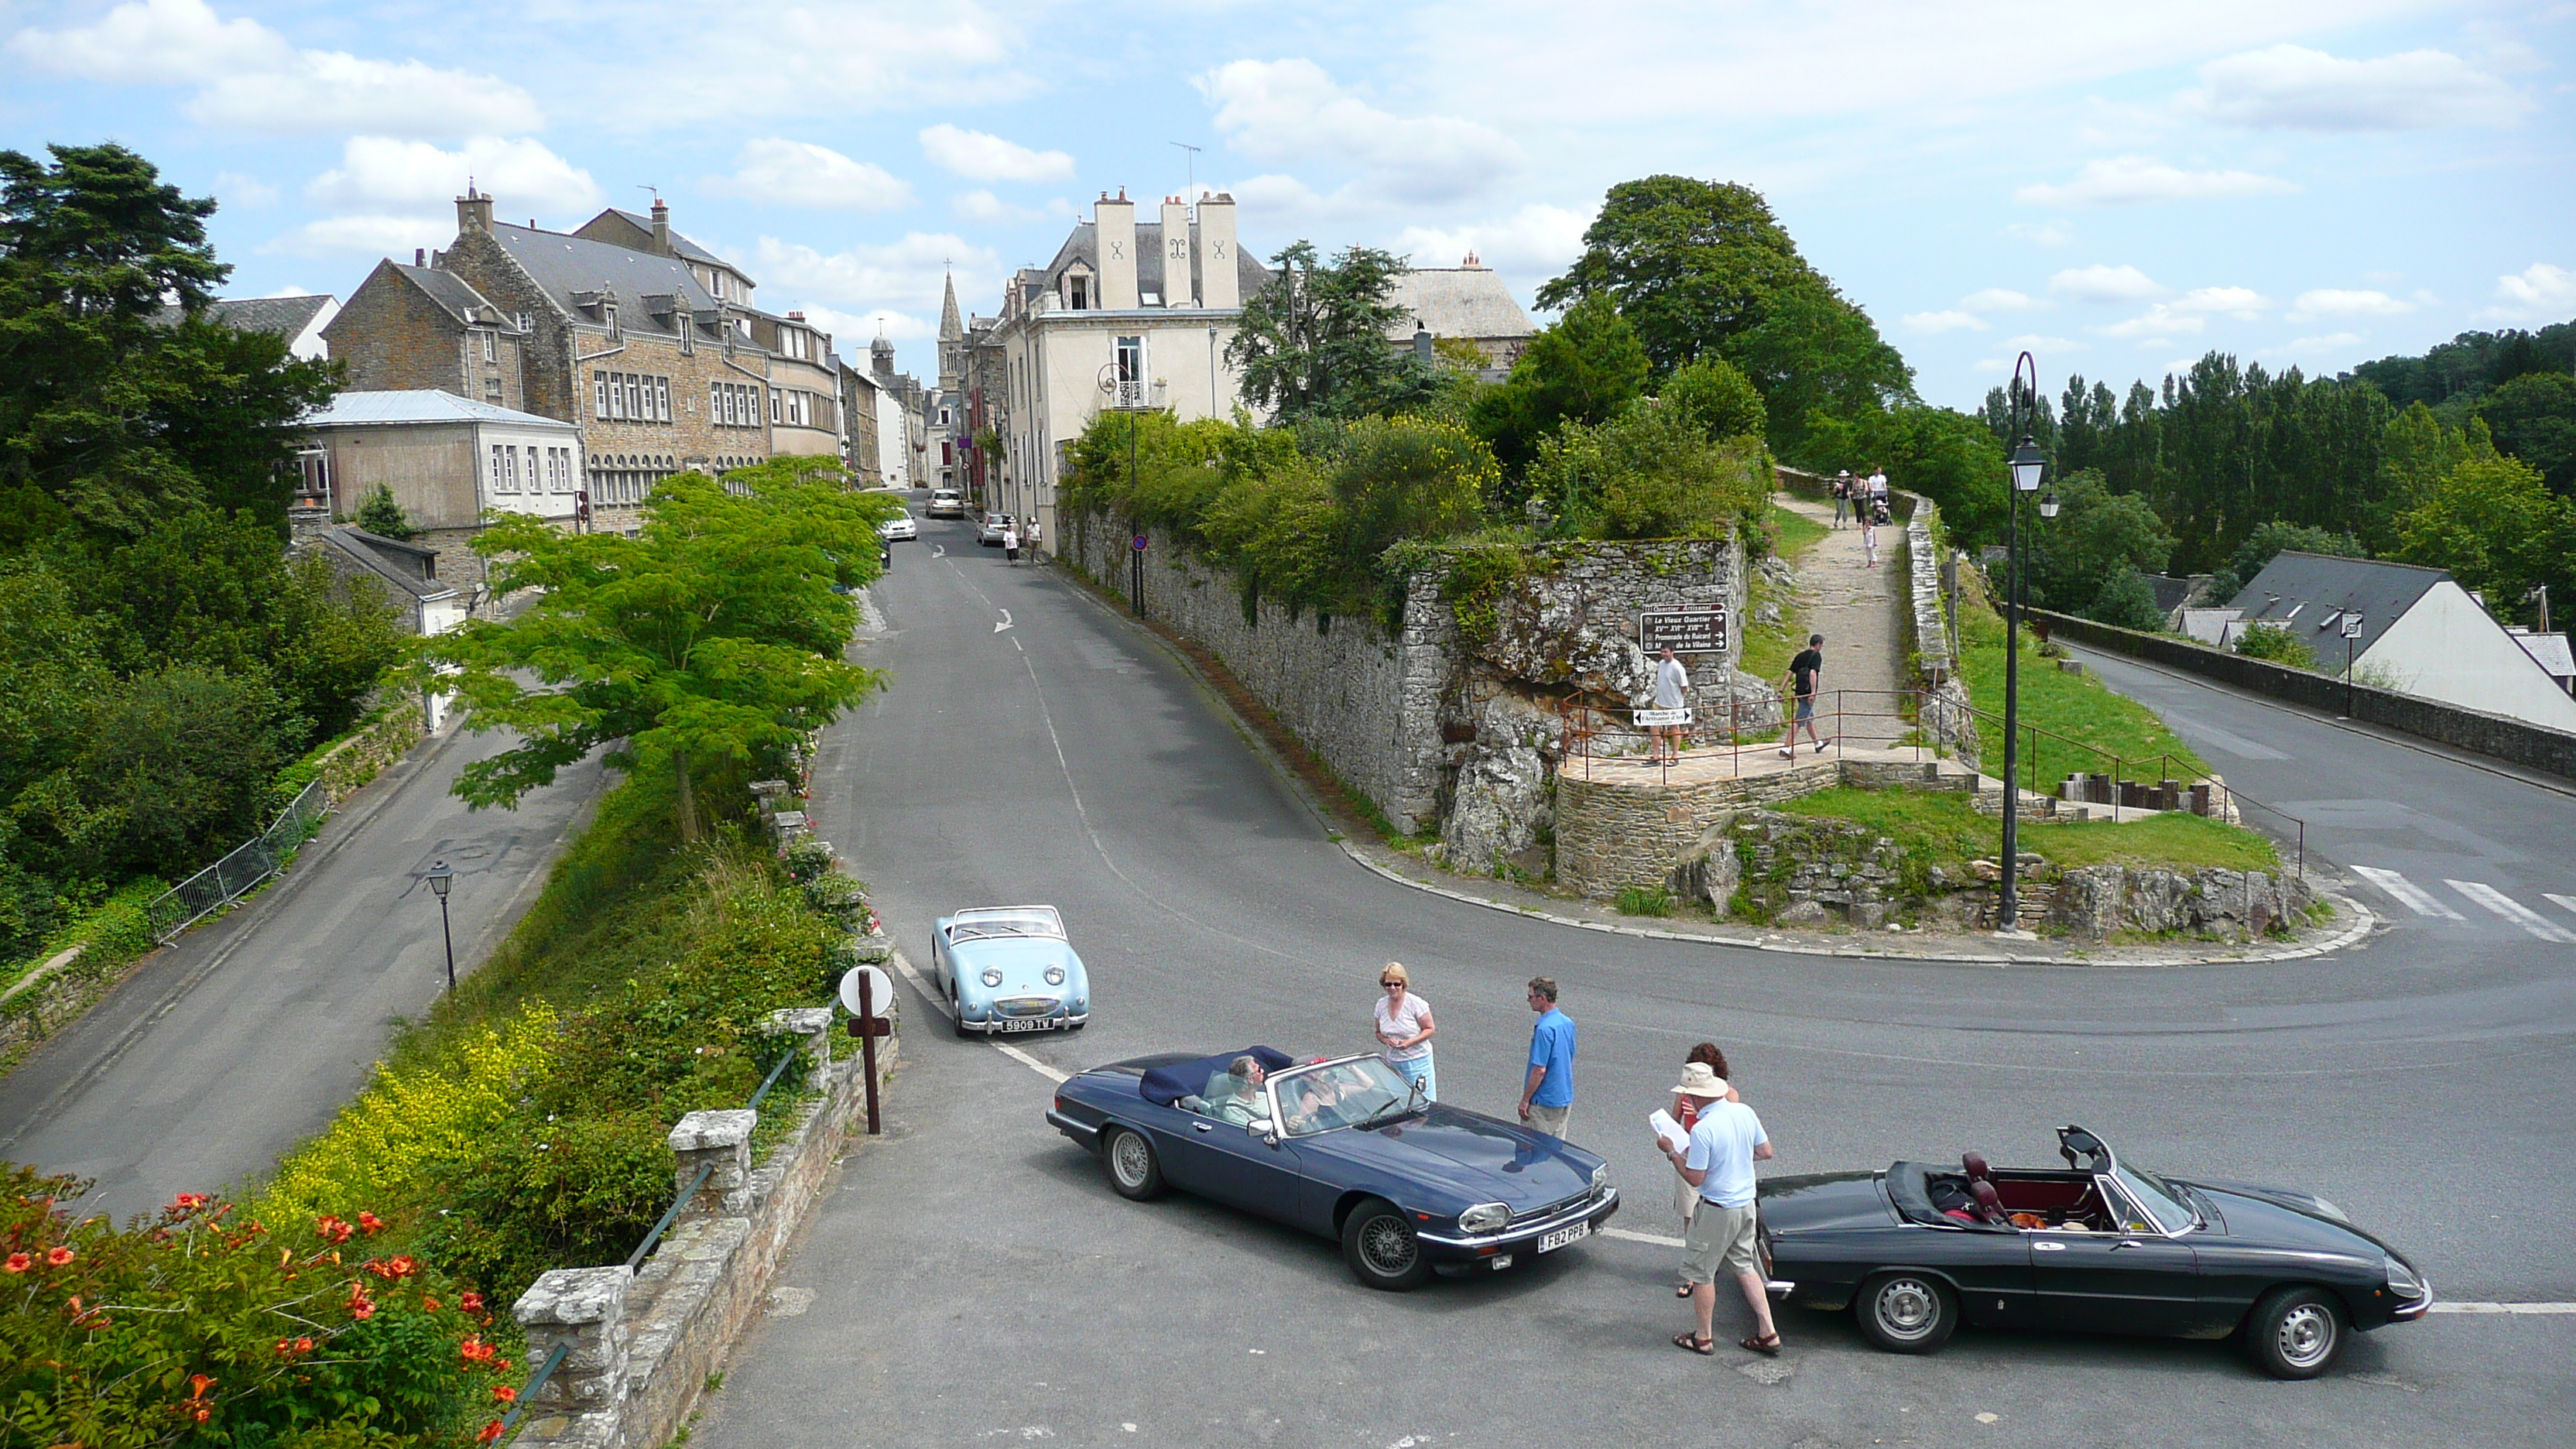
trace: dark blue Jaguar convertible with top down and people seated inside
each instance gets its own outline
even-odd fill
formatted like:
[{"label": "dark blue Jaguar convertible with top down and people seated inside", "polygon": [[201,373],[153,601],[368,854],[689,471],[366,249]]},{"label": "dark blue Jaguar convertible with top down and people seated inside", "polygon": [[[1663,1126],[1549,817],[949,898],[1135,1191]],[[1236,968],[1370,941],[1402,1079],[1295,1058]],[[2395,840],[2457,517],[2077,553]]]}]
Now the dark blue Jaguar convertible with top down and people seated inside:
[{"label": "dark blue Jaguar convertible with top down and people seated inside", "polygon": [[1100,1152],[1118,1196],[1182,1189],[1337,1238],[1373,1289],[1419,1287],[1437,1263],[1507,1269],[1618,1212],[1592,1152],[1422,1101],[1373,1055],[1133,1057],[1069,1078],[1046,1122]]}]

